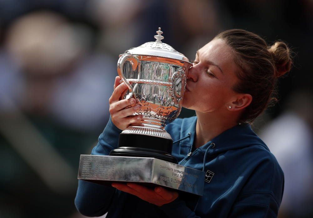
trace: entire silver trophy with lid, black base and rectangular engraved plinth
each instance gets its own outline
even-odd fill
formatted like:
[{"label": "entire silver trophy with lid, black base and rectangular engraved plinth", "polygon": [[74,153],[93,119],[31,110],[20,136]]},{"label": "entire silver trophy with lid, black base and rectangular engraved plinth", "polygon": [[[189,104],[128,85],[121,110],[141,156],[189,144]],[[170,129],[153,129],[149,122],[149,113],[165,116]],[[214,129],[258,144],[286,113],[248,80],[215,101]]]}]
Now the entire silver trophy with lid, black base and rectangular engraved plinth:
[{"label": "entire silver trophy with lid, black base and rectangular engraved plinth", "polygon": [[161,28],[155,42],[120,55],[117,72],[129,90],[124,98],[139,99],[143,119],[121,132],[110,156],[81,155],[78,179],[106,184],[111,181],[158,184],[202,195],[204,173],[177,165],[172,138],[164,130],[182,108],[187,70],[192,63],[163,43]]}]

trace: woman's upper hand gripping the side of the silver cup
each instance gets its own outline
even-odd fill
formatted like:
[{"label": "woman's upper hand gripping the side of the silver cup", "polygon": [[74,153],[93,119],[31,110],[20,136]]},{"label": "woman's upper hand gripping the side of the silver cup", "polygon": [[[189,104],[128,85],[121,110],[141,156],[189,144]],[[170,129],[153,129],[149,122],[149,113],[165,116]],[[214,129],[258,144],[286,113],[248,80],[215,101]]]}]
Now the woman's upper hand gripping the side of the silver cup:
[{"label": "woman's upper hand gripping the side of the silver cup", "polygon": [[142,115],[131,116],[140,110],[140,106],[134,98],[123,99],[128,87],[124,82],[120,84],[120,80],[119,76],[115,77],[114,91],[109,99],[109,111],[113,124],[117,128],[125,130],[131,124],[141,121]]}]

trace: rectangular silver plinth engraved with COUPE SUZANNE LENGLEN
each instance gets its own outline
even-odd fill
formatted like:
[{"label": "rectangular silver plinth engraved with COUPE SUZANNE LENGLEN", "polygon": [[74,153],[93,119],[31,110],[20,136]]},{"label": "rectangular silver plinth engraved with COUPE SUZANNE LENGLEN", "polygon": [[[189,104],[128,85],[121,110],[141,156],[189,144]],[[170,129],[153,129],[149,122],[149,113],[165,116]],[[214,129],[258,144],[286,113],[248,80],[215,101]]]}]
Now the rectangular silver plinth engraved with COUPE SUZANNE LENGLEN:
[{"label": "rectangular silver plinth engraved with COUPE SUZANNE LENGLEN", "polygon": [[80,155],[78,179],[100,184],[138,182],[203,195],[204,172],[156,158]]}]

